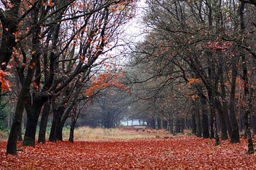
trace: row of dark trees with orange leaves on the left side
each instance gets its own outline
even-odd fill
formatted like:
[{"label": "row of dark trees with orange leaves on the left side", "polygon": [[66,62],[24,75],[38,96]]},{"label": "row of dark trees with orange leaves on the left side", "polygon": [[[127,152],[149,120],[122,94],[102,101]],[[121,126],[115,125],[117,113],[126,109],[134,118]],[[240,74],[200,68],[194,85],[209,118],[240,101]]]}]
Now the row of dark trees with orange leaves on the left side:
[{"label": "row of dark trees with orange leaves on the left side", "polygon": [[49,113],[56,142],[65,121],[71,118],[73,133],[82,105],[102,89],[124,89],[105,61],[132,9],[125,0],[1,1],[1,105],[14,102],[7,154],[16,154],[23,116],[23,145],[35,146],[37,126],[38,142],[46,142]]}]

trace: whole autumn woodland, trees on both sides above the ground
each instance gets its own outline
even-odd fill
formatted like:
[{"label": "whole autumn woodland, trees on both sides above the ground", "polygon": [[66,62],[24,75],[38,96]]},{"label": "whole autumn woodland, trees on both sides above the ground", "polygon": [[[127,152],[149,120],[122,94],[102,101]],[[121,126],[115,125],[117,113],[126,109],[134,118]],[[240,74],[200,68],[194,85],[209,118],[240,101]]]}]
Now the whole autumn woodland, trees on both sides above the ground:
[{"label": "whole autumn woodland, trees on both sides above the ground", "polygon": [[2,0],[0,21],[7,154],[128,120],[255,153],[255,0]]}]

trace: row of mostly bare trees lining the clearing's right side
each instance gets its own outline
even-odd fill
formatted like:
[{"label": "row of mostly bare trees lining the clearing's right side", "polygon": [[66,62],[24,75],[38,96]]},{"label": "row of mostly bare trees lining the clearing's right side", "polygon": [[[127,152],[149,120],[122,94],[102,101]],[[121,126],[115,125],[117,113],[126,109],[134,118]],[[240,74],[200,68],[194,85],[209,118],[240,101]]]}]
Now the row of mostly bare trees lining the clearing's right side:
[{"label": "row of mostly bare trees lining the clearing's right side", "polygon": [[[134,116],[153,128],[240,142],[256,132],[255,1],[146,1],[127,72]],[[218,133],[221,132],[221,133]]]}]

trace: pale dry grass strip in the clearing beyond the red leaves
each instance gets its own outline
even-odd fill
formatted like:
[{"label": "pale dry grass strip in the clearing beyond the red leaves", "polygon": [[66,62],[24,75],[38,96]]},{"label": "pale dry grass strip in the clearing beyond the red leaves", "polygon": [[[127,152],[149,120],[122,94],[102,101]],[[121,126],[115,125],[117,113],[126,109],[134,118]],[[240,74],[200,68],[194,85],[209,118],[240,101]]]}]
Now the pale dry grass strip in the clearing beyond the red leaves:
[{"label": "pale dry grass strip in the clearing beyond the red leaves", "polygon": [[[69,132],[63,132],[64,140],[68,140]],[[134,128],[88,128],[80,127],[75,129],[75,141],[98,141],[98,140],[133,140],[148,138],[171,137],[169,132],[164,130],[145,130],[137,132]]]}]

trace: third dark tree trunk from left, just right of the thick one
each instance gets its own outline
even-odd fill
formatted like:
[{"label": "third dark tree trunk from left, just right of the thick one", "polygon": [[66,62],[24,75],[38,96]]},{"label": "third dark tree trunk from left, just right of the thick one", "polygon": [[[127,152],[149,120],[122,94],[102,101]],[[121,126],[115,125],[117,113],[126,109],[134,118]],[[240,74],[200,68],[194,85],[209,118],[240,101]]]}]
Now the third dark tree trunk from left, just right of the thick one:
[{"label": "third dark tree trunk from left, just right of the thick one", "polygon": [[50,101],[46,101],[46,103],[43,106],[43,113],[41,116],[38,143],[43,143],[43,144],[46,143],[46,128],[47,128],[49,113],[50,113]]}]

